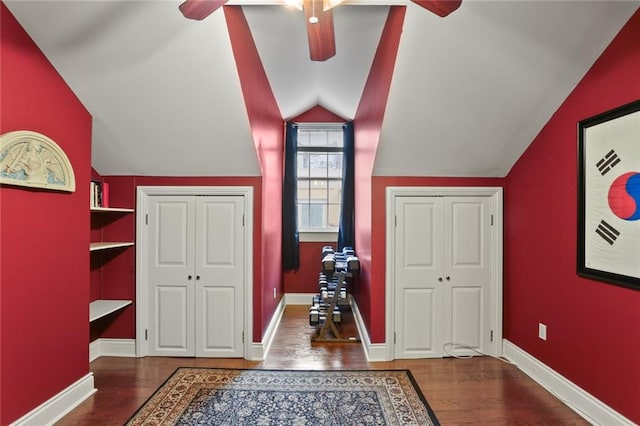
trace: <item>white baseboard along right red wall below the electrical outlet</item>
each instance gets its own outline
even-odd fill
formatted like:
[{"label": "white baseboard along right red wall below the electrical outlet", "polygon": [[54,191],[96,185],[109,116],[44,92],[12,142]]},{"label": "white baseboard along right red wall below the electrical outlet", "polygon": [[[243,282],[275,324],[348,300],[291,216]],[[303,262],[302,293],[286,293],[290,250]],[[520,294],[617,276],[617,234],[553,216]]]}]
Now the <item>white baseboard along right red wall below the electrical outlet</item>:
[{"label": "white baseboard along right red wall below the electrical outlet", "polygon": [[578,387],[546,364],[504,339],[503,356],[594,425],[635,425],[634,422]]}]

